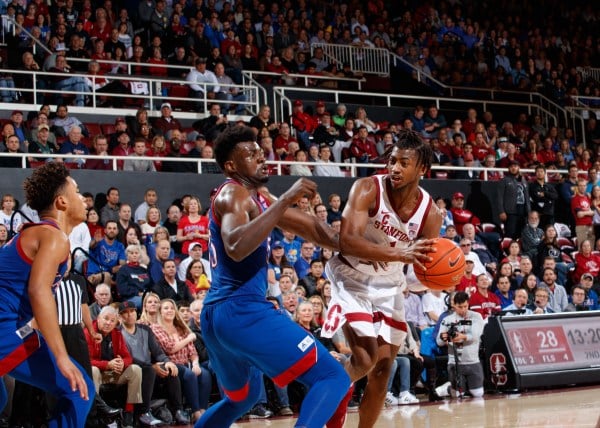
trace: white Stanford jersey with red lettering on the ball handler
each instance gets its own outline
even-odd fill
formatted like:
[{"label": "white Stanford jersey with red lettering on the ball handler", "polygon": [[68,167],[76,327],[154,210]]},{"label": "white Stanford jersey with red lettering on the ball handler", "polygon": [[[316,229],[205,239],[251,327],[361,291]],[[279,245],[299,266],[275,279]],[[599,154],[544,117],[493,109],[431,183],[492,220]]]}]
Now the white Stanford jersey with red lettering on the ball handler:
[{"label": "white Stanford jersey with red lettering on the ball handler", "polygon": [[[377,202],[375,208],[369,211],[365,238],[378,244],[387,243],[390,247],[406,248],[421,234],[425,219],[431,208],[431,196],[419,187],[420,196],[417,207],[405,223],[400,220],[400,217],[392,208],[386,191],[386,177],[387,175],[374,175],[371,177],[377,189]],[[361,261],[357,257],[344,255],[343,259],[356,270],[368,275],[398,274],[404,268],[402,262],[389,262],[386,270],[379,268],[376,271],[371,263]]]}]

